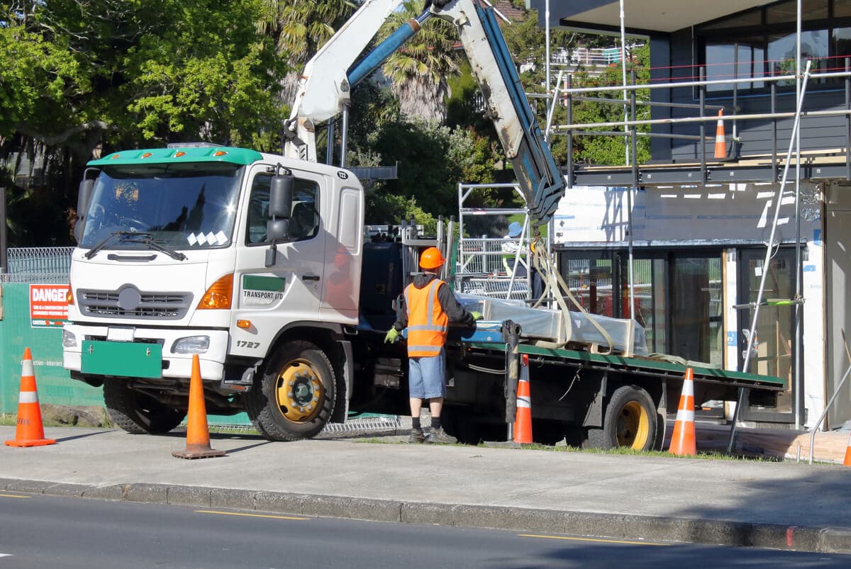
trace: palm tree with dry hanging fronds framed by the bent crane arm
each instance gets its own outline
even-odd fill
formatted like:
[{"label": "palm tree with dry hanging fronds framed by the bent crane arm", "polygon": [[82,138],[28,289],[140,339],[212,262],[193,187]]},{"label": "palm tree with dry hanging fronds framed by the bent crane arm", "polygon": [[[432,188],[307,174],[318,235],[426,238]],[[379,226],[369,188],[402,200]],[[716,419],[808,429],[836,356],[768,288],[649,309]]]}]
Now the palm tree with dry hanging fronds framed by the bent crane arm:
[{"label": "palm tree with dry hanging fronds framed by the bent crane arm", "polygon": [[[379,36],[389,36],[407,20],[420,15],[422,8],[422,0],[405,0],[403,9],[387,20]],[[437,122],[446,119],[447,77],[459,72],[454,59],[455,43],[454,26],[431,18],[420,33],[387,58],[381,71],[391,80],[403,115]]]}]

